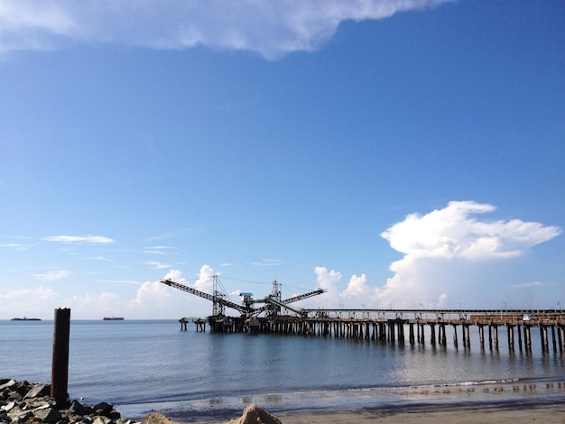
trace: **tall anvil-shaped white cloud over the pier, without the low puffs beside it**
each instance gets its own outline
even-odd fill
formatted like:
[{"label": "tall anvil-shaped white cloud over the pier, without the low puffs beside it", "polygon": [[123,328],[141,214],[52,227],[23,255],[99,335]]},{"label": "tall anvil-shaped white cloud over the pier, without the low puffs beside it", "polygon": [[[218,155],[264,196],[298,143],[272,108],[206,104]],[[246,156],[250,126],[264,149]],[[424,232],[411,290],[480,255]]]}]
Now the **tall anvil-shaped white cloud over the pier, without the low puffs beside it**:
[{"label": "tall anvil-shaped white cloud over the pier, without the low puffs beside it", "polygon": [[537,222],[476,217],[495,209],[472,201],[452,201],[424,216],[409,215],[386,229],[382,236],[404,256],[391,264],[394,276],[382,290],[376,290],[380,304],[400,307],[416,300],[426,307],[441,307],[449,291],[456,289],[456,281],[459,286],[478,284],[468,281],[471,267],[521,256],[561,233],[558,226]]}]

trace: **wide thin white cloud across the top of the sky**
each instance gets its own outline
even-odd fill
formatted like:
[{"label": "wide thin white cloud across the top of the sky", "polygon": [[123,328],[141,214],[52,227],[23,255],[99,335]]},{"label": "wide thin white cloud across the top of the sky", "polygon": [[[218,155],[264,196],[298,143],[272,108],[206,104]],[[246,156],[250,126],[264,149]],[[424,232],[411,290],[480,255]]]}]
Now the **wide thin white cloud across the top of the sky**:
[{"label": "wide thin white cloud across the top of the sky", "polygon": [[453,0],[3,0],[0,51],[52,49],[68,41],[153,49],[257,51],[277,59],[314,51],[344,21],[377,20]]}]

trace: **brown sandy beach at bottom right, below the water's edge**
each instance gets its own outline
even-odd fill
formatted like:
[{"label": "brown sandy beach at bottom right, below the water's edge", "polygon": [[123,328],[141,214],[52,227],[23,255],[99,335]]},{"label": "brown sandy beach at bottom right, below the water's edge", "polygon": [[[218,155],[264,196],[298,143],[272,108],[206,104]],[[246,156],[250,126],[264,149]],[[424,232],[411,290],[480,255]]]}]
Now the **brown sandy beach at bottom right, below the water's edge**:
[{"label": "brown sandy beach at bottom right, below the water's edge", "polygon": [[[565,383],[484,384],[468,388],[414,388],[394,393],[397,402],[378,402],[357,397],[335,406],[312,408],[257,404],[282,424],[322,423],[565,423]],[[241,411],[245,409],[242,405]],[[239,411],[239,412],[241,412]],[[173,414],[178,422],[219,424],[237,419],[239,412],[218,409],[208,415],[200,410]],[[165,412],[166,414],[166,412]],[[231,415],[230,415],[231,414]],[[174,416],[176,415],[176,416]]]}]

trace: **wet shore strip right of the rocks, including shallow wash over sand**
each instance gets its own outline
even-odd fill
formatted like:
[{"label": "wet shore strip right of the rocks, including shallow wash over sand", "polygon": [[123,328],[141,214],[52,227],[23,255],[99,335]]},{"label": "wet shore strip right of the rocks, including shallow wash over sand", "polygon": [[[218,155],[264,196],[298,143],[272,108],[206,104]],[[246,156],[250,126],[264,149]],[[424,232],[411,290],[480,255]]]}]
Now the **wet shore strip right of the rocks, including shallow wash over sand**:
[{"label": "wet shore strip right of the rocks, including shallow wash over sand", "polygon": [[[151,410],[176,422],[219,424],[235,419],[249,404],[284,424],[347,422],[549,422],[565,412],[565,382],[481,383],[357,391],[264,393],[199,401],[116,405],[139,419]],[[533,413],[533,411],[536,411]],[[525,419],[524,413],[530,418]],[[553,419],[554,420],[554,419]],[[565,421],[562,421],[565,423]]]}]

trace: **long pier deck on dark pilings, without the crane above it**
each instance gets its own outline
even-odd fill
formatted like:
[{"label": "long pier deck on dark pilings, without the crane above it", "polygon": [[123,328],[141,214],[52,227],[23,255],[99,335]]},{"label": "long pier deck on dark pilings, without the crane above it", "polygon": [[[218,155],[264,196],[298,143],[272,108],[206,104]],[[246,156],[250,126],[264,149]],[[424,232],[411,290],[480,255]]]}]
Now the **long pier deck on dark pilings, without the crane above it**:
[{"label": "long pier deck on dark pilings, without the crane above it", "polygon": [[[304,309],[302,316],[265,318],[208,317],[211,332],[322,336],[389,344],[447,346],[469,349],[471,331],[481,349],[531,351],[539,339],[543,353],[565,350],[565,314],[551,310],[493,309]],[[499,327],[507,336],[500,340]],[[537,333],[537,336],[536,334]],[[450,342],[448,340],[450,339]]]}]

